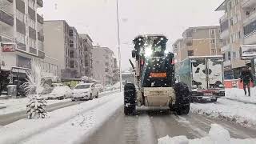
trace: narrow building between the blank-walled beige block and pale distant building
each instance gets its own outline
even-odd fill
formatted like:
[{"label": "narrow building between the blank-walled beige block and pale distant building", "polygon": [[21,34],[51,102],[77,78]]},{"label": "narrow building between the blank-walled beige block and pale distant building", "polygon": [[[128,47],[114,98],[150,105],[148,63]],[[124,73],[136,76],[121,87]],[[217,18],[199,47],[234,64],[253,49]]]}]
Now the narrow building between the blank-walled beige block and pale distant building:
[{"label": "narrow building between the blank-walled beige block and pale distant building", "polygon": [[82,66],[82,76],[89,78],[93,77],[93,40],[88,34],[79,34],[82,46],[82,59],[80,59],[80,66]]}]

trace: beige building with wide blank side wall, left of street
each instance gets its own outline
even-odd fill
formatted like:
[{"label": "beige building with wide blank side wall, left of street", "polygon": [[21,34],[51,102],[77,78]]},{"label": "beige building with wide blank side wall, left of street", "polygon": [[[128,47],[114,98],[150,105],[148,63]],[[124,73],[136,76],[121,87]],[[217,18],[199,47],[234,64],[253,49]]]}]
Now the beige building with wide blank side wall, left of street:
[{"label": "beige building with wide blank side wall, left of street", "polygon": [[58,74],[61,78],[75,78],[78,54],[74,46],[74,29],[64,20],[56,20],[45,21],[43,30],[45,52],[58,60],[54,63],[58,66]]}]

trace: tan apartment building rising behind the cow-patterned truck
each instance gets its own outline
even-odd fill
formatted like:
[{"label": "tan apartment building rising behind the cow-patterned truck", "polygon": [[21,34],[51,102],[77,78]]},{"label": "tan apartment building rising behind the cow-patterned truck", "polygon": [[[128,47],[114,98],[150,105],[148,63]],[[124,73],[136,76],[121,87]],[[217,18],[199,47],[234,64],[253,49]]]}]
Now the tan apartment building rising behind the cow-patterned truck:
[{"label": "tan apartment building rising behind the cow-patterned truck", "polygon": [[173,44],[175,62],[190,56],[219,55],[222,40],[219,38],[220,26],[190,27]]}]

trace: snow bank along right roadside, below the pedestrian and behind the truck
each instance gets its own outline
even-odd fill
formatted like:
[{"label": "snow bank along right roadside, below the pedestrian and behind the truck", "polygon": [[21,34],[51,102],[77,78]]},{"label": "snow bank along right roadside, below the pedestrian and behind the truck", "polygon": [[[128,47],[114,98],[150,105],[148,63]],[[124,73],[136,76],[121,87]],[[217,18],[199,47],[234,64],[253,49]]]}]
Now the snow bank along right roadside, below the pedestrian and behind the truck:
[{"label": "snow bank along right roadside, below the pedestrian and behind the truck", "polygon": [[190,111],[213,118],[222,118],[242,126],[256,126],[256,105],[218,99],[215,103],[191,103]]}]

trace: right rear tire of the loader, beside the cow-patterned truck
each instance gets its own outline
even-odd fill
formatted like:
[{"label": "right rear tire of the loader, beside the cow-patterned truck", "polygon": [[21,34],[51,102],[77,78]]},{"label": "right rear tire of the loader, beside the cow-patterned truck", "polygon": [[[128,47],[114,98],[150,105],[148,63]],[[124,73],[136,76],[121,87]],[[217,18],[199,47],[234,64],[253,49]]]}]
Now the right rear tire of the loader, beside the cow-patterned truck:
[{"label": "right rear tire of the loader, beside the cow-patterned truck", "polygon": [[178,82],[174,86],[176,102],[174,110],[178,115],[189,114],[191,93],[184,82]]}]

